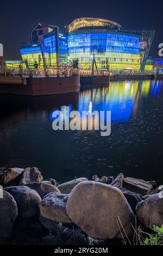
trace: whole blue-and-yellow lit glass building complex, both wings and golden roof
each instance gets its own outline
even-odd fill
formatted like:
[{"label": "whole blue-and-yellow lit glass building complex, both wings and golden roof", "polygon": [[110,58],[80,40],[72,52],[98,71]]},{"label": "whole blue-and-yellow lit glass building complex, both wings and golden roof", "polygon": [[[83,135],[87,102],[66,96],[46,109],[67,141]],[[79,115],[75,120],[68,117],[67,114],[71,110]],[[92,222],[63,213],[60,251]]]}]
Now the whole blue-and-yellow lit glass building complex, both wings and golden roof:
[{"label": "whole blue-and-yellow lit glass building complex, both wings and golden roof", "polygon": [[[23,60],[33,67],[55,66],[79,60],[79,67],[90,69],[95,56],[99,70],[144,71],[154,31],[125,31],[116,22],[81,18],[67,26],[66,32],[56,26],[38,23],[30,32],[30,45],[20,45]],[[148,67],[147,67],[148,68]]]}]

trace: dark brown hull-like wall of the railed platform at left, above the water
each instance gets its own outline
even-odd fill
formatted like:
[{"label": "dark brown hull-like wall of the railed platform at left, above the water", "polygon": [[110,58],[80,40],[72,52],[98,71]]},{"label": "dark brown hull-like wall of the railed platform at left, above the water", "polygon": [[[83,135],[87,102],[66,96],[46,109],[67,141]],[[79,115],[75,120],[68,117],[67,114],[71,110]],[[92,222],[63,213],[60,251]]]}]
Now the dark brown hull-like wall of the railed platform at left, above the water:
[{"label": "dark brown hull-like wall of the railed platform at left, above the water", "polygon": [[13,84],[0,84],[0,93],[30,96],[77,92],[79,89],[79,76],[62,76],[59,78],[28,78],[27,85],[15,84],[14,82]]}]

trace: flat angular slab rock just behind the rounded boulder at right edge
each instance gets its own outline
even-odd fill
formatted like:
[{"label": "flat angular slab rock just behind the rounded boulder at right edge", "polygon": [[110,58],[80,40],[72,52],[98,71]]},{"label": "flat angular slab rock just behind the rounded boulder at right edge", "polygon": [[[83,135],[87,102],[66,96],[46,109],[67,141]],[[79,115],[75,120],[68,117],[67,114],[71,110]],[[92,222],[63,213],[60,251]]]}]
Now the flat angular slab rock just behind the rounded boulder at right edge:
[{"label": "flat angular slab rock just behind the rounded boulder at right edge", "polygon": [[141,195],[147,195],[153,191],[153,186],[149,182],[131,177],[124,178],[123,187]]}]

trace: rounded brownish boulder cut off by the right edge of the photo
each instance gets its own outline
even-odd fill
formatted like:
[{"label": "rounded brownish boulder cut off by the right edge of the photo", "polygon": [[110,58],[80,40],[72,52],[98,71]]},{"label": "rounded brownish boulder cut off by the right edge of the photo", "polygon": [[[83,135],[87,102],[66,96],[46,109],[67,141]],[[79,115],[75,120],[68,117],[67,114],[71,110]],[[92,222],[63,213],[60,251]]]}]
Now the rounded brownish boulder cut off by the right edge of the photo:
[{"label": "rounded brownish boulder cut off by the right edge of the photo", "polygon": [[161,227],[163,224],[163,198],[160,194],[149,195],[136,206],[136,215],[146,227],[153,225]]}]

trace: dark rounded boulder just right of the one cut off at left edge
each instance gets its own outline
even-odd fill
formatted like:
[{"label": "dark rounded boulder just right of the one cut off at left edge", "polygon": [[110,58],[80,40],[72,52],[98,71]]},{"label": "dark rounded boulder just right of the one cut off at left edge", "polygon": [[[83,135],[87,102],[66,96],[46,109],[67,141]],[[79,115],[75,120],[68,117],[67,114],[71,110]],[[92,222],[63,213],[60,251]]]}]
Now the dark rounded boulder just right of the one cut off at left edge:
[{"label": "dark rounded boulder just right of the one cut off at left edge", "polygon": [[41,197],[35,190],[27,186],[6,187],[4,190],[15,199],[18,207],[17,217],[19,219],[26,219],[37,215]]}]

